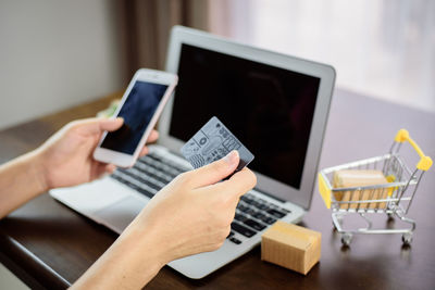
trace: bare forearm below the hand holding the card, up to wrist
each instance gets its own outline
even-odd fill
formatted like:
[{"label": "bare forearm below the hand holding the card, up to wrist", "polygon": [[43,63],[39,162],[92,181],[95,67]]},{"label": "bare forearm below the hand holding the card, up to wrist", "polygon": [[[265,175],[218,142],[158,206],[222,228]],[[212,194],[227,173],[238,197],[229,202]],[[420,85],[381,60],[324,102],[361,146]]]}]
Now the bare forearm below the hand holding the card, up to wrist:
[{"label": "bare forearm below the hand holding the card, up to wrist", "polygon": [[140,289],[166,262],[152,230],[133,223],[72,289]]}]

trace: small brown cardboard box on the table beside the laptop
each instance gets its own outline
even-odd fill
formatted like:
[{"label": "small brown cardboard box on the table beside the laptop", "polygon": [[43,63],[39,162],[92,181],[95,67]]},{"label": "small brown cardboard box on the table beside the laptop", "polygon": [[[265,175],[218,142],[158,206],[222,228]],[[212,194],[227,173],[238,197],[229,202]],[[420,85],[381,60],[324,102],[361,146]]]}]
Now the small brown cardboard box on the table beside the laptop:
[{"label": "small brown cardboard box on the table beside the laptop", "polygon": [[321,238],[318,231],[278,220],[261,237],[261,260],[307,275],[320,260]]}]

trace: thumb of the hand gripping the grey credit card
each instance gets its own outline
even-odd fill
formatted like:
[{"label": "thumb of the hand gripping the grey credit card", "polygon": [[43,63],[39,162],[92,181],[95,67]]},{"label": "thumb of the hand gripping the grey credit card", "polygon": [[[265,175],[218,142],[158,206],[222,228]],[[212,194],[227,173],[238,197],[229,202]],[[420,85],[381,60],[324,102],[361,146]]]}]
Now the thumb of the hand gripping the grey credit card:
[{"label": "thumb of the hand gripping the grey credit card", "polygon": [[240,156],[236,150],[229,152],[225,157],[210,163],[203,167],[192,171],[195,187],[214,185],[221,181],[237,168]]}]

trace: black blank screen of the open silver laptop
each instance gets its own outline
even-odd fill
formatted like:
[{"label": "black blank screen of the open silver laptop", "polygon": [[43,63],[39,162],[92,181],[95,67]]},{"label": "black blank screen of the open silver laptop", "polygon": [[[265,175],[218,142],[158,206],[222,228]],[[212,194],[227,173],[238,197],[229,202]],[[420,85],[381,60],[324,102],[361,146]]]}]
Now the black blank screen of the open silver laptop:
[{"label": "black blank screen of the open silver laptop", "polygon": [[249,167],[301,185],[320,78],[186,43],[170,135],[187,141],[217,116],[254,154]]}]

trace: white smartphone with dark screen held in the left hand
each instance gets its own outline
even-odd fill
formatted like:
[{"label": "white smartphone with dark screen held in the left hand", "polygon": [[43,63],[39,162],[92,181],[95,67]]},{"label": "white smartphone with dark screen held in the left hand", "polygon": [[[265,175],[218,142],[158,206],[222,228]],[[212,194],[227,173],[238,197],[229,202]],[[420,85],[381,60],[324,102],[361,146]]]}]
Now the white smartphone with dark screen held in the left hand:
[{"label": "white smartphone with dark screen held in the left hand", "polygon": [[133,166],[177,81],[176,75],[166,72],[137,71],[113,114],[123,117],[124,124],[101,136],[94,159],[120,167]]}]

